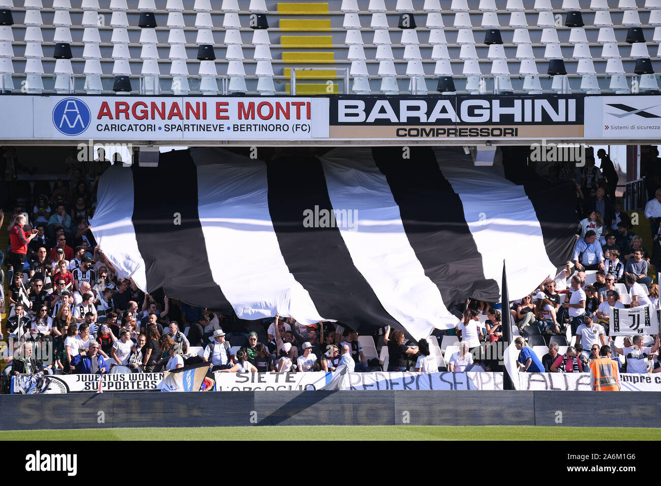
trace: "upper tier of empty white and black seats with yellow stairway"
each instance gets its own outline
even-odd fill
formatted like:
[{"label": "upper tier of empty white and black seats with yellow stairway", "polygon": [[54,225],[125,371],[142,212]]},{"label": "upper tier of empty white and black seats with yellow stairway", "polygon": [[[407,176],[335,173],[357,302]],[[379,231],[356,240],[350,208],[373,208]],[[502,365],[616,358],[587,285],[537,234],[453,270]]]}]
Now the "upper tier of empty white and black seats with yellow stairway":
[{"label": "upper tier of empty white and black seats with yellow stairway", "polygon": [[[449,9],[447,8],[449,7]],[[584,1],[3,1],[17,93],[658,91],[661,7]],[[295,71],[295,72],[293,72]],[[346,79],[349,86],[344,87]],[[495,85],[495,86],[494,86]]]}]

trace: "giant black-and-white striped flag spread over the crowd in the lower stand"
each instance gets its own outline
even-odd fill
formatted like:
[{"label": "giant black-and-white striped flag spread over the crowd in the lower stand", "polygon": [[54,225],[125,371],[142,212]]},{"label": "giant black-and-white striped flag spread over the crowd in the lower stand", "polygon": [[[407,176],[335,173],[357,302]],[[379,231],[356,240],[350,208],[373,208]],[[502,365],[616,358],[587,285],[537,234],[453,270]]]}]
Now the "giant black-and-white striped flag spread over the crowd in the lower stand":
[{"label": "giant black-and-white striped flag spread over the crowd in the lower stand", "polygon": [[498,302],[503,259],[512,298],[566,261],[570,186],[542,182],[514,151],[493,167],[461,149],[399,153],[162,153],[157,168],[104,173],[92,230],[145,291],[243,319],[393,325],[415,339],[455,325],[448,309],[469,296]]}]

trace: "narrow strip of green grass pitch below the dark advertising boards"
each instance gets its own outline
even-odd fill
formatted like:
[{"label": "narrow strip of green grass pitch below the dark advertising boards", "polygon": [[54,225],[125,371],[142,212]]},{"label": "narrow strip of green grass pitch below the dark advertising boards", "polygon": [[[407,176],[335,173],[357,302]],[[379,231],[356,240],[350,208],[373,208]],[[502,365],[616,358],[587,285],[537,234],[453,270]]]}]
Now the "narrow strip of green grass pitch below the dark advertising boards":
[{"label": "narrow strip of green grass pitch below the dark advertising boards", "polygon": [[[595,433],[598,432],[598,433]],[[10,430],[0,440],[661,440],[661,428],[543,426],[256,426]]]}]

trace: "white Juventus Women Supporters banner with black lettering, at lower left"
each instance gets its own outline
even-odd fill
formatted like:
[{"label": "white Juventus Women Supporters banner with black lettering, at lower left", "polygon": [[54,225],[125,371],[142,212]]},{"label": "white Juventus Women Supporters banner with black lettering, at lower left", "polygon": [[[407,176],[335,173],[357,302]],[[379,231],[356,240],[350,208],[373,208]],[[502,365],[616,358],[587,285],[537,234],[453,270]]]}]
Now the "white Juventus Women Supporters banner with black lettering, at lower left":
[{"label": "white Juventus Women Supporters banner with black lettering, at lower left", "polygon": [[76,393],[79,391],[159,391],[169,373],[19,375],[12,380],[11,393]]}]

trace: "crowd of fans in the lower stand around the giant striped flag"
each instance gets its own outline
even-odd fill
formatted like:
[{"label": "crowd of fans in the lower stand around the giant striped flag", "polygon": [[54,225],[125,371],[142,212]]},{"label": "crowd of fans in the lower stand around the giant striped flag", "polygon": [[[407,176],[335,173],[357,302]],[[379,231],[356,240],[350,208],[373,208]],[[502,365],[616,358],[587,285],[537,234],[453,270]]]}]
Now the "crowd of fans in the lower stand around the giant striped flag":
[{"label": "crowd of fans in the lower stand around the giant striped flag", "polygon": [[[564,165],[549,171],[549,179],[576,182],[582,195],[576,245],[565,268],[507,309],[469,300],[457,309],[463,318],[455,328],[434,331],[434,346],[425,339],[407,342],[399,329],[377,329],[370,337],[375,348],[387,346],[387,371],[438,370],[436,346],[449,336],[459,339],[459,349],[444,357],[447,370],[502,371],[502,352],[489,347],[502,339],[503,311],[520,334],[515,344],[523,371],[583,372],[600,358],[602,346],[613,358],[626,356],[619,363],[623,371],[661,371],[658,337],[650,346],[644,344],[651,338],[633,337],[622,348],[608,337],[609,307],[659,308],[652,268],[659,268],[661,257],[661,189],[645,208],[654,235],[648,252],[615,200],[612,162],[603,150],[598,157],[602,169],[588,160],[580,178]],[[381,370],[383,363],[366,358],[358,333],[344,323],[305,325],[280,315],[245,321],[163,292],[142,292],[131,279],[118,278],[89,229],[96,184],[107,165],[98,159],[88,170],[69,160],[71,182],[58,180],[50,194],[36,197],[31,211],[17,204],[7,218],[10,247],[0,253],[9,289],[0,296],[11,338],[5,375],[157,372],[200,361],[211,372]],[[4,220],[0,211],[0,225]],[[548,346],[548,353],[537,356],[529,342]],[[568,346],[566,352],[559,352],[561,346]],[[36,353],[44,349],[52,352]]]}]

